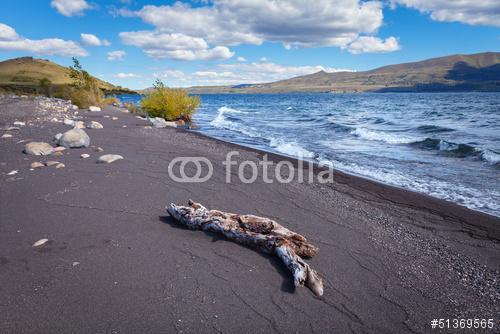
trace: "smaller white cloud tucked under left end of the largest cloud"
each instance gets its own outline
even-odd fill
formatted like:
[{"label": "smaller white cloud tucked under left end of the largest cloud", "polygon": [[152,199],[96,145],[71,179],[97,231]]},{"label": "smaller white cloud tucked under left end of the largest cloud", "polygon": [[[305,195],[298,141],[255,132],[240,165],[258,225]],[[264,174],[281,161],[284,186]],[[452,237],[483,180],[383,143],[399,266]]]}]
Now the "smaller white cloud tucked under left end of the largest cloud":
[{"label": "smaller white cloud tucked under left end of the largest cloud", "polygon": [[234,55],[234,52],[225,46],[210,48],[203,38],[180,33],[130,31],[121,32],[120,39],[124,44],[141,48],[144,53],[153,58],[217,60],[229,59]]}]

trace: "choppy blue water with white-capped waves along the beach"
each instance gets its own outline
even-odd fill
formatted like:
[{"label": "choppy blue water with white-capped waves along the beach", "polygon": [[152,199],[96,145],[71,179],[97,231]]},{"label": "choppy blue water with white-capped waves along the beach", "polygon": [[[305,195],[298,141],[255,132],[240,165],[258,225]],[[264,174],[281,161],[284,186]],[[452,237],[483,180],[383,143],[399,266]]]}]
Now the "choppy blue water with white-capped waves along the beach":
[{"label": "choppy blue water with white-capped waves along the beach", "polygon": [[500,94],[202,95],[209,136],[500,216]]}]

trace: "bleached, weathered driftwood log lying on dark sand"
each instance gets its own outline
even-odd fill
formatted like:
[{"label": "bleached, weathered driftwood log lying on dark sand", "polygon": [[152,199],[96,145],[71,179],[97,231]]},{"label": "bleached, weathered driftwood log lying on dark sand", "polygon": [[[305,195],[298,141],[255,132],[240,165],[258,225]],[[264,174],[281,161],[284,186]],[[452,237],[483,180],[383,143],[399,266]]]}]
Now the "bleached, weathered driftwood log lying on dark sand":
[{"label": "bleached, weathered driftwood log lying on dark sand", "polygon": [[295,286],[307,286],[317,296],[323,295],[323,282],[302,257],[312,257],[318,248],[274,220],[253,215],[238,215],[208,210],[189,200],[189,206],[170,204],[168,213],[192,230],[220,233],[237,243],[278,256],[292,272]]}]

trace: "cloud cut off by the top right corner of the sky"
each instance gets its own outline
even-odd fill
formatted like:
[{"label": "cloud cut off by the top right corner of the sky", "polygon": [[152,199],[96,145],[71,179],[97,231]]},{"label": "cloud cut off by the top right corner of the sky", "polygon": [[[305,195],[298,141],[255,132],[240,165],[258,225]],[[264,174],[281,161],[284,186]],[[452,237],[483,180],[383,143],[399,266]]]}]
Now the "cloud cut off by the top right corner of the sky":
[{"label": "cloud cut off by the top right corner of the sky", "polygon": [[430,13],[436,21],[500,27],[498,0],[391,0],[391,5],[403,5]]}]

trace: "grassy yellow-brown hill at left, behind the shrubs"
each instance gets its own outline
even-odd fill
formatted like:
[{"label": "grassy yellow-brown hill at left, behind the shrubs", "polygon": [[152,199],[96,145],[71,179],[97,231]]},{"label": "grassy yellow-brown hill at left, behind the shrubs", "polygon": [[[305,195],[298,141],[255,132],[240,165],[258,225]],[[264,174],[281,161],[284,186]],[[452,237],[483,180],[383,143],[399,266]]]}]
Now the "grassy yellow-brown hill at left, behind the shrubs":
[{"label": "grassy yellow-brown hill at left, behind the shrubs", "polygon": [[[35,90],[44,78],[49,79],[55,86],[71,84],[69,69],[49,60],[21,57],[0,62],[0,88],[5,90],[30,92]],[[132,92],[100,79],[97,81],[99,87],[106,92]]]}]

